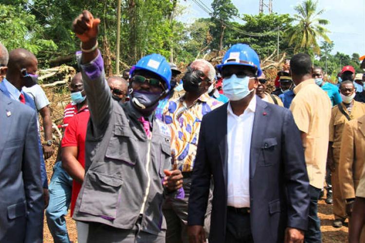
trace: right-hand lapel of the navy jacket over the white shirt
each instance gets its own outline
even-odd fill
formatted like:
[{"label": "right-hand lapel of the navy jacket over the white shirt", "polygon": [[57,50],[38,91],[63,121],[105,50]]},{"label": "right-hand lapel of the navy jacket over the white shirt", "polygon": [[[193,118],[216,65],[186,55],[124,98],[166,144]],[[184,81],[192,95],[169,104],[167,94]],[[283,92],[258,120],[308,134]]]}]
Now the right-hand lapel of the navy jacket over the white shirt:
[{"label": "right-hand lapel of the navy jacket over the white shirt", "polygon": [[250,151],[250,178],[253,178],[256,171],[256,162],[258,159],[258,153],[262,147],[262,139],[264,138],[266,128],[268,127],[268,121],[270,112],[268,112],[268,105],[260,98],[256,99],[256,111],[254,118],[254,126],[252,128],[251,136],[251,151]]}]

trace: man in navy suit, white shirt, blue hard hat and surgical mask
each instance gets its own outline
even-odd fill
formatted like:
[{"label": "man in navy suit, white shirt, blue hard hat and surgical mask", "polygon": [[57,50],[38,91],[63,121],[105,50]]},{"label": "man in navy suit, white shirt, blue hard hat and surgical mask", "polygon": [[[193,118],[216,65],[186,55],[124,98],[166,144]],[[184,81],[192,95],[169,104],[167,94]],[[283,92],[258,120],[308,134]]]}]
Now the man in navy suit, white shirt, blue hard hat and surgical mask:
[{"label": "man in navy suit, white shirt, blue hard hat and surgical mask", "polygon": [[232,46],[219,69],[230,102],[201,122],[189,198],[190,242],[204,242],[213,176],[209,243],[301,243],[309,180],[292,114],[256,98],[260,61],[249,46]]}]

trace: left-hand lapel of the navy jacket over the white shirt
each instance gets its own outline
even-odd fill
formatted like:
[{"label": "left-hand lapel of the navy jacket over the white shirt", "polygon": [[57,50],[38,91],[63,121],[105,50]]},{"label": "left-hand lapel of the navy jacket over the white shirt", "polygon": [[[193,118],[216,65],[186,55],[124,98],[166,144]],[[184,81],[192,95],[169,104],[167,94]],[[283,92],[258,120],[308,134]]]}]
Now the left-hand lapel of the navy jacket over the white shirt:
[{"label": "left-hand lapel of the navy jacket over the white shirt", "polygon": [[224,178],[225,188],[227,188],[227,175],[228,175],[228,142],[227,142],[227,107],[228,103],[223,104],[221,108],[219,108],[219,112],[217,113],[217,120],[216,120],[216,129],[217,132],[217,139],[219,141],[219,155],[220,161],[222,163],[222,172]]}]

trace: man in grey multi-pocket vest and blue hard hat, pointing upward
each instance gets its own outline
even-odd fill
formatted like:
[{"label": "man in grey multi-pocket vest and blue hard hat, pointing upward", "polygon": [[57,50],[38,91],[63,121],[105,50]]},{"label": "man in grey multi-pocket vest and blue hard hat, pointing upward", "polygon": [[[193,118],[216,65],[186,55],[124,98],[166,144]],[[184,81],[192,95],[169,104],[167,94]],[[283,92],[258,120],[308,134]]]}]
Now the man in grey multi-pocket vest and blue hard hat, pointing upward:
[{"label": "man in grey multi-pocket vest and blue hard hat, pointing upward", "polygon": [[169,129],[153,116],[170,89],[171,69],[159,54],[141,58],[130,70],[131,100],[113,100],[97,49],[99,23],[86,10],[73,21],[90,110],[73,218],[89,225],[87,242],[164,243],[163,199],[183,197],[181,171],[169,170]]}]

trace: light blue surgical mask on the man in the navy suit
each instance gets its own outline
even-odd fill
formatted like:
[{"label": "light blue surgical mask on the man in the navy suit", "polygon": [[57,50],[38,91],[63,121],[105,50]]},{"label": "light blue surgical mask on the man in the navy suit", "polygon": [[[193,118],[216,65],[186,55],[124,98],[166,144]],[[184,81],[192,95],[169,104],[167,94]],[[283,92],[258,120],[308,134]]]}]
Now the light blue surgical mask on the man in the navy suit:
[{"label": "light blue surgical mask on the man in the navy suit", "polygon": [[230,101],[239,101],[249,95],[254,89],[249,89],[248,83],[250,82],[250,77],[246,76],[243,78],[238,78],[236,74],[233,74],[229,78],[223,79],[223,92],[224,95]]}]

